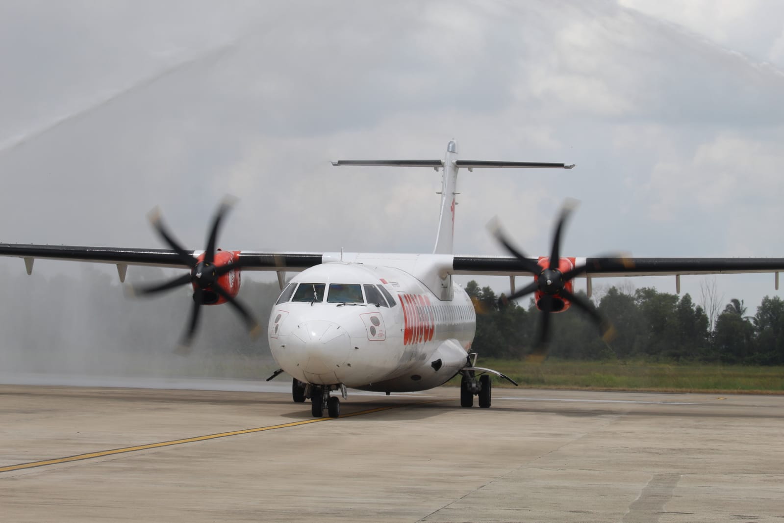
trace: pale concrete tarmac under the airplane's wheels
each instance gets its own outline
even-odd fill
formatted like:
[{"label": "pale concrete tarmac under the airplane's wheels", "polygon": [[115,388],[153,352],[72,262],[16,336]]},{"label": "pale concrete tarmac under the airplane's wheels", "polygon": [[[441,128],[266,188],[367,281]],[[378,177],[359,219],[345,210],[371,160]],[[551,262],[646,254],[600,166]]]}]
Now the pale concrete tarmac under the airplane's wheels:
[{"label": "pale concrete tarmac under the airplane's wheels", "polygon": [[784,522],[780,396],[281,385],[0,385],[0,521]]}]

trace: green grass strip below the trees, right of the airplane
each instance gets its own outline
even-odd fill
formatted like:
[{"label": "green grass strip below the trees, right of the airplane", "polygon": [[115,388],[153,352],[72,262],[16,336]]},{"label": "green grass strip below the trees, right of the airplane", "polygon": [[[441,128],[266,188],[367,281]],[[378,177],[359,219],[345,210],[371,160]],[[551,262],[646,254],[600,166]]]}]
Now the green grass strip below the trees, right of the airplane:
[{"label": "green grass strip below the trees, right of the airplane", "polygon": [[[784,367],[491,359],[478,361],[477,365],[503,372],[520,387],[529,388],[784,394]],[[450,383],[458,385],[459,378]],[[495,378],[494,385],[513,387],[506,380]]]}]

